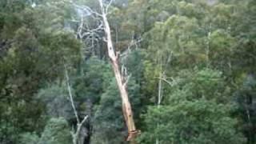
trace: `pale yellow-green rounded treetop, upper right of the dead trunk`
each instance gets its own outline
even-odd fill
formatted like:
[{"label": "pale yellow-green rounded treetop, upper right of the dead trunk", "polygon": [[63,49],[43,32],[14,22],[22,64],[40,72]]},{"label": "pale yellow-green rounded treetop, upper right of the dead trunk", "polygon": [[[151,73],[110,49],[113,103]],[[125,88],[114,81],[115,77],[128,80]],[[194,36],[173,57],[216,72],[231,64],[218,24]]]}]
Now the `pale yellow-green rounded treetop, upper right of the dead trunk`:
[{"label": "pale yellow-green rounded treetop, upper right of the dead trunk", "polygon": [[173,54],[183,66],[188,66],[188,62],[196,63],[204,54],[199,32],[195,18],[173,15],[166,22],[157,22],[150,30],[149,54],[157,54],[160,60],[166,60]]}]

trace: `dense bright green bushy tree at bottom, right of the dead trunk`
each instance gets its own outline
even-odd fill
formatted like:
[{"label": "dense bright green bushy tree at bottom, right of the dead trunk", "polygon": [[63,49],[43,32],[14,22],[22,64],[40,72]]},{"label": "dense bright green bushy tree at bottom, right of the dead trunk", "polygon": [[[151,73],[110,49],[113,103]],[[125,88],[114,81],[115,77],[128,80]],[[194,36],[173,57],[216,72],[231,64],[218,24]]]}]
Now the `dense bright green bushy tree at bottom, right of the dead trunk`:
[{"label": "dense bright green bushy tree at bottom, right of the dead trunk", "polygon": [[228,98],[218,71],[183,72],[177,79],[173,92],[164,96],[164,106],[150,106],[143,116],[146,131],[142,143],[156,139],[161,143],[244,142],[235,130],[238,122],[230,118],[231,105],[225,101]]}]

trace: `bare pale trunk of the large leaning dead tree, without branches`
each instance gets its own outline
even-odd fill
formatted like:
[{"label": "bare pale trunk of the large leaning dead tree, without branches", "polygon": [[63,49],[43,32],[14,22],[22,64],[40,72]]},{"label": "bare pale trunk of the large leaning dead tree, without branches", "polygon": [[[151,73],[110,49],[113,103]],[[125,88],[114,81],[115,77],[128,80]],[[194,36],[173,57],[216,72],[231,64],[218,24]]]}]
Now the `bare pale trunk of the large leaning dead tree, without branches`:
[{"label": "bare pale trunk of the large leaning dead tree, without branches", "polygon": [[121,98],[122,98],[122,112],[126,121],[126,126],[128,128],[128,138],[127,141],[133,140],[136,135],[138,134],[138,130],[136,130],[135,124],[134,124],[134,118],[133,118],[133,112],[131,110],[129,98],[128,98],[128,92],[126,90],[126,84],[127,81],[124,80],[121,72],[120,72],[120,66],[118,63],[118,55],[114,51],[113,42],[111,38],[111,32],[110,32],[110,24],[106,17],[106,9],[103,6],[102,0],[98,0],[101,10],[102,10],[102,20],[104,25],[104,31],[106,34],[106,42],[107,42],[107,50],[108,50],[108,56],[110,57],[111,66],[114,70],[114,76],[118,84],[118,90],[120,92]]}]

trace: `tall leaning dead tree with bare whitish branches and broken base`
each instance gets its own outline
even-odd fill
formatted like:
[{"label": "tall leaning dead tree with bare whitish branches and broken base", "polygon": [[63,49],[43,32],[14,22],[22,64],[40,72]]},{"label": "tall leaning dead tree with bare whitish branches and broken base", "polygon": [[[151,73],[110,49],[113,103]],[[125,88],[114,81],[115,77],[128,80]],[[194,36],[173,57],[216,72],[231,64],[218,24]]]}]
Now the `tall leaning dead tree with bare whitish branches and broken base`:
[{"label": "tall leaning dead tree with bare whitish branches and broken base", "polygon": [[[103,37],[101,40],[106,42],[107,54],[110,58],[110,63],[114,71],[114,77],[118,84],[118,90],[122,98],[122,113],[125,118],[126,126],[128,129],[128,137],[126,138],[126,140],[132,141],[139,134],[139,130],[136,129],[134,124],[133,112],[128,97],[128,91],[126,89],[127,82],[129,81],[130,76],[128,76],[128,74],[126,73],[125,67],[120,66],[119,54],[114,50],[114,45],[111,37],[110,23],[107,19],[108,10],[113,0],[110,0],[110,2],[107,3],[102,2],[102,0],[98,0],[98,2],[100,7],[99,13],[97,11],[92,10],[89,6],[77,6],[76,4],[74,4],[74,2],[72,2],[74,6],[78,7],[80,10],[84,10],[86,16],[90,15],[91,18],[98,20],[99,23],[97,28],[93,30],[88,30],[88,27],[84,25],[84,19],[81,19],[82,23],[80,23],[80,26],[78,28],[78,35],[81,38],[91,38],[90,35],[98,35],[98,33],[100,32],[103,32],[105,34],[105,37]],[[130,46],[137,46],[138,42],[140,42],[141,40],[142,39],[130,42]],[[94,41],[94,38],[92,39],[92,41]],[[128,46],[128,49],[130,49],[130,46]],[[92,47],[94,46],[92,45]],[[123,67],[125,73],[121,72],[121,67]]]}]

